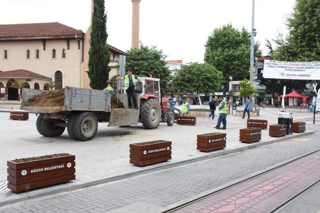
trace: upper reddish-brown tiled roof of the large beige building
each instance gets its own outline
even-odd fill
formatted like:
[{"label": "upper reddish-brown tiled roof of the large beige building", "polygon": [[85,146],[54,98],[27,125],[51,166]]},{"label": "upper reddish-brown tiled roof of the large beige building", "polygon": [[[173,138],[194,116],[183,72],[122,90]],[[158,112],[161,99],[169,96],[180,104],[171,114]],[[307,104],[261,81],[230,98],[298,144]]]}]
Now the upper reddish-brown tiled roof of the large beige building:
[{"label": "upper reddish-brown tiled roof of the large beige building", "polygon": [[58,22],[0,24],[0,40],[74,38],[83,34],[81,30]]}]

